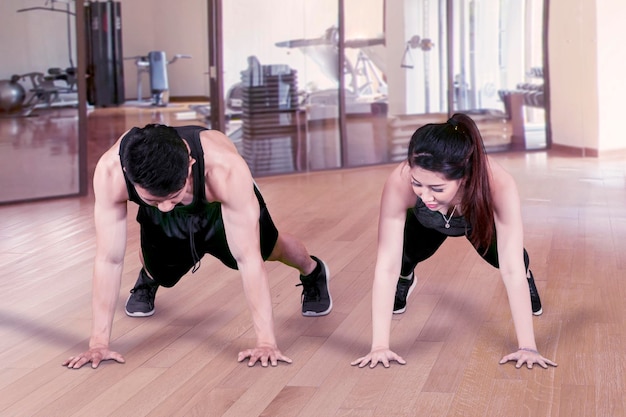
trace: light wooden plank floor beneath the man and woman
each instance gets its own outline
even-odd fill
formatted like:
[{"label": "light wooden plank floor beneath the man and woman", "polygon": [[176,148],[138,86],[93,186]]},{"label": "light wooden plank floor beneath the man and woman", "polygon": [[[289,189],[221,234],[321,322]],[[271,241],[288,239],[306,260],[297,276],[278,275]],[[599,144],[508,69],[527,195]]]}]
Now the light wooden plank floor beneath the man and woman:
[{"label": "light wooden plank floor beneath the man and woman", "polygon": [[[90,116],[90,167],[125,128]],[[92,196],[0,207],[0,415],[5,416],[626,416],[626,164],[550,152],[497,154],[519,181],[525,245],[544,303],[540,351],[558,368],[499,365],[516,349],[497,270],[449,239],[416,270],[384,369],[369,350],[379,196],[391,166],[258,180],[281,230],[332,272],[332,313],[300,314],[297,273],[268,263],[279,345],[293,364],[248,368],[254,344],[241,281],[205,257],[160,289],[157,312],[123,312],[140,264],[131,208],[112,348],[126,364],[68,370],[87,347]]]}]

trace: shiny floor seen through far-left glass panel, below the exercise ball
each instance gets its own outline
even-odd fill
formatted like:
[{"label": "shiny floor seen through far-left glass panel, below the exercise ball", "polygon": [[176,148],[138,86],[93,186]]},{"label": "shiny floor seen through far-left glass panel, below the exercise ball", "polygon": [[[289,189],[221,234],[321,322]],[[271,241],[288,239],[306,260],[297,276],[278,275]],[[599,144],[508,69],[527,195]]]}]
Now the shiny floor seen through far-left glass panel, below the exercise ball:
[{"label": "shiny floor seen through far-left glass panel, below the exercise ball", "polygon": [[0,202],[79,192],[78,111],[0,118]]}]

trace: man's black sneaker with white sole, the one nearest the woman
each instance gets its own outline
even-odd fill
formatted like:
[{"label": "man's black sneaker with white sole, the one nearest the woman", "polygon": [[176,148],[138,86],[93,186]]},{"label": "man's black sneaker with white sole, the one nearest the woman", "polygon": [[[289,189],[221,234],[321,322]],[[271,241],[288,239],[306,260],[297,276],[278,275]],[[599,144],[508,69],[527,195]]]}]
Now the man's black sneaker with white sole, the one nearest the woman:
[{"label": "man's black sneaker with white sole, the one nearest the woman", "polygon": [[300,275],[301,283],[297,286],[302,286],[302,315],[308,317],[325,316],[330,313],[333,308],[333,300],[330,297],[328,291],[328,280],[330,279],[330,273],[328,272],[328,266],[321,259],[311,256],[315,262],[317,262],[319,269],[317,275],[303,276]]}]

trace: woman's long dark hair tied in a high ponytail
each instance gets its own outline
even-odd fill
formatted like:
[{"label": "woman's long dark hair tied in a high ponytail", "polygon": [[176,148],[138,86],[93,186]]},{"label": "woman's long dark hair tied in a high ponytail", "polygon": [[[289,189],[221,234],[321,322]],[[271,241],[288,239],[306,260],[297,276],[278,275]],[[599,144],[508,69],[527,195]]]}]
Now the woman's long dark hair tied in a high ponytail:
[{"label": "woman's long dark hair tied in a high ponytail", "polygon": [[482,136],[476,123],[456,113],[446,123],[417,129],[409,143],[410,167],[443,174],[462,182],[461,211],[472,226],[469,236],[476,248],[489,248],[494,235],[489,169]]}]

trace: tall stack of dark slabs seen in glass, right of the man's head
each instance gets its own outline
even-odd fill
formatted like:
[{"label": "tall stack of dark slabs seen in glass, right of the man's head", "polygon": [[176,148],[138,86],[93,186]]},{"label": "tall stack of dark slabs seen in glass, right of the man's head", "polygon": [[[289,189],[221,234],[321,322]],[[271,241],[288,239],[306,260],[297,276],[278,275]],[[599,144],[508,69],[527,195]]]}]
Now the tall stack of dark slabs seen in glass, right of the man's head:
[{"label": "tall stack of dark slabs seen in glass, right of the man's head", "polygon": [[300,170],[306,115],[299,110],[297,71],[248,58],[242,81],[242,154],[253,175]]}]

